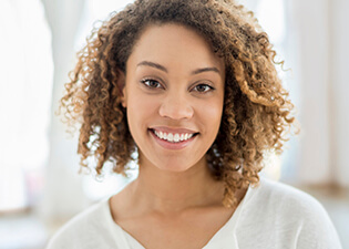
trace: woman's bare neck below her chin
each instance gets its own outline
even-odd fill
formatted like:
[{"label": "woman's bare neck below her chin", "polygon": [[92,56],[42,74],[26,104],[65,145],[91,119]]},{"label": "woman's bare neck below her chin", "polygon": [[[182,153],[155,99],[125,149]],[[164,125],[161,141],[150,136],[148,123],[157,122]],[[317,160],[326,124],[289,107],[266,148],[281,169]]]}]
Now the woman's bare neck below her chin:
[{"label": "woman's bare neck below her chin", "polygon": [[215,180],[206,159],[185,172],[168,172],[141,164],[137,179],[132,183],[135,205],[163,214],[193,207],[220,205],[224,185]]}]

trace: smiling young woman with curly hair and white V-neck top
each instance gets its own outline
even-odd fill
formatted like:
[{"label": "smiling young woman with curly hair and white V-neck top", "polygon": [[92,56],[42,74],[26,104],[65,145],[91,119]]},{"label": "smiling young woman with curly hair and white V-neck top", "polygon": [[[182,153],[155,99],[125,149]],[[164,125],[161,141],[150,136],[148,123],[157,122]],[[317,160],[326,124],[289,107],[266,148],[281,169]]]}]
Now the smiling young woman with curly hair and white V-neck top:
[{"label": "smiling young woman with curly hair and white V-neck top", "polygon": [[340,248],[318,201],[258,176],[294,117],[252,18],[229,0],[138,0],[93,33],[62,106],[83,166],[140,173],[49,248]]}]

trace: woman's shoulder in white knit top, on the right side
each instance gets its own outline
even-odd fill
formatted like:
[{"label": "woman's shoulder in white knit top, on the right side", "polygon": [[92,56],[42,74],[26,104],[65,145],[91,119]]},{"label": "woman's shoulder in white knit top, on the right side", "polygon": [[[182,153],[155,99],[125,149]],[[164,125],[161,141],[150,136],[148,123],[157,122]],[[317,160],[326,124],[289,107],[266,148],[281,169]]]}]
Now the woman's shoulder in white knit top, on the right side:
[{"label": "woman's shoulder in white knit top, on the right side", "polygon": [[266,178],[249,190],[240,219],[249,236],[273,241],[275,248],[340,248],[327,211],[309,194]]}]

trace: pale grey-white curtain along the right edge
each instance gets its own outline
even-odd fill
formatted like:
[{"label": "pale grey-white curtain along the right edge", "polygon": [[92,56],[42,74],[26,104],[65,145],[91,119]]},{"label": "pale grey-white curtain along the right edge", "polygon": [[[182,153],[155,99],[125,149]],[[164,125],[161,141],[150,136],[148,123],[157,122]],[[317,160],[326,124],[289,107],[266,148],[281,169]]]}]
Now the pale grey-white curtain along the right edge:
[{"label": "pale grey-white curtain along the right edge", "polygon": [[299,81],[301,184],[349,186],[349,2],[288,1]]}]

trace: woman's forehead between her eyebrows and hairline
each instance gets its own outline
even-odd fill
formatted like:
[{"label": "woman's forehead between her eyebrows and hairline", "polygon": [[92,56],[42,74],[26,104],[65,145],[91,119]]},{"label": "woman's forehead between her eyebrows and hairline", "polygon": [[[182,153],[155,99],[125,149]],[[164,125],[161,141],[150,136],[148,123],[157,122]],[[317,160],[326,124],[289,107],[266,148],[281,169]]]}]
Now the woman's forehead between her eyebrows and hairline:
[{"label": "woman's forehead between her eyebrows and hairline", "polygon": [[213,52],[204,37],[173,23],[152,24],[142,32],[129,58],[127,68],[144,60],[184,70],[216,66],[224,72],[225,68],[223,59]]}]

